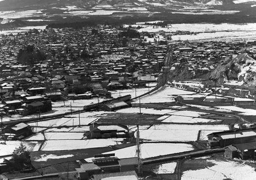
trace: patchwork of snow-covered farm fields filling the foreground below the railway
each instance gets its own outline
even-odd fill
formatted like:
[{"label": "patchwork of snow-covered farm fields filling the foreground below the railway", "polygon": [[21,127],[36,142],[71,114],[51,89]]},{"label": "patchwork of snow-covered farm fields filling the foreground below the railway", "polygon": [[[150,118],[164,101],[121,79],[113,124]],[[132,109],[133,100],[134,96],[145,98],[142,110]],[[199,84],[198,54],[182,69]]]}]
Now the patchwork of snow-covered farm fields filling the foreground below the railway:
[{"label": "patchwork of snow-covered farm fields filling the foreground below the railway", "polygon": [[[164,97],[178,94],[190,97],[195,95],[194,92],[166,86],[153,95],[141,98],[145,102],[141,108],[136,106],[120,109],[116,112],[82,112],[80,113],[80,122],[78,114],[71,114],[58,119],[30,123],[29,125],[34,129],[34,134],[22,142],[31,151],[32,164],[38,169],[68,161],[90,161],[95,154],[115,153],[119,158],[135,157],[134,139],[90,139],[88,133],[90,131],[89,126],[92,123],[123,124],[131,132],[134,132],[136,137],[136,125],[139,124],[142,143],[141,155],[143,159],[146,159],[197,150],[200,147],[196,147],[192,142],[207,140],[207,134],[212,132],[229,130],[229,124],[224,124],[226,121],[238,123],[238,120],[232,116],[217,115],[213,112],[225,112],[230,115],[251,114],[249,113],[251,110],[241,107],[177,104],[173,102],[154,103],[155,105],[152,105],[149,101],[151,96],[156,96],[157,100],[158,98],[164,99]],[[156,100],[153,98],[151,102]],[[78,102],[77,104],[79,104]],[[138,100],[133,105],[137,103]],[[62,102],[55,103],[55,106],[55,108],[62,108]],[[10,155],[20,143],[20,141],[12,141],[12,144],[10,142],[8,141],[7,145],[0,145],[0,150],[5,152],[0,151],[0,155]],[[202,161],[206,160],[203,159]],[[210,169],[209,167],[209,170],[203,170],[199,167],[196,170],[189,170],[189,168],[186,168],[187,165],[182,166],[182,180],[190,180],[190,177],[196,171],[198,171],[200,177],[207,174],[207,171],[217,171],[219,178],[229,177],[221,171],[221,168],[227,165],[231,167],[238,166],[233,161],[226,160],[207,160],[206,164],[211,164],[211,167],[214,168]],[[176,161],[161,163],[154,167],[152,172],[157,176],[176,176],[176,167]],[[253,172],[251,172],[250,167],[241,166],[251,176]],[[48,169],[46,172],[50,173],[51,171]]]}]

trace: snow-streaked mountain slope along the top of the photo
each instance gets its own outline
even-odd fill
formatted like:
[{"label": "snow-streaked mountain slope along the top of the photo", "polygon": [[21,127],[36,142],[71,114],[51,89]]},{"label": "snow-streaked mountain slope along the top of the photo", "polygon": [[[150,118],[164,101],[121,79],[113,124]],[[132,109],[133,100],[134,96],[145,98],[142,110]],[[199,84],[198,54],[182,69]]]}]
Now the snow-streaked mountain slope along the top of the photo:
[{"label": "snow-streaked mountain slope along the top of the photo", "polygon": [[[37,23],[39,26],[39,23],[68,23],[98,16],[107,20],[108,17],[166,19],[170,15],[176,15],[175,18],[179,21],[179,15],[240,13],[242,16],[249,15],[246,23],[252,23],[256,21],[255,5],[256,0],[0,0],[0,18],[19,19],[26,24]],[[221,23],[231,19],[221,18]]]}]

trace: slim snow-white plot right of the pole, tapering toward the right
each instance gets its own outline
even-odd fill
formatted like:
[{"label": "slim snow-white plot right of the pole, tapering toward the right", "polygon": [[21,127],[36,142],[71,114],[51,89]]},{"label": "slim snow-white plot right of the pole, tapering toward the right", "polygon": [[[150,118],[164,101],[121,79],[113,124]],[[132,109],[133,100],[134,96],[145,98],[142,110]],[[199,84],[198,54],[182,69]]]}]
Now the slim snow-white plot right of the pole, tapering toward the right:
[{"label": "slim snow-white plot right of the pole, tapering toward the right", "polygon": [[161,122],[162,123],[209,123],[209,122],[216,122],[216,121],[218,120],[172,115]]}]

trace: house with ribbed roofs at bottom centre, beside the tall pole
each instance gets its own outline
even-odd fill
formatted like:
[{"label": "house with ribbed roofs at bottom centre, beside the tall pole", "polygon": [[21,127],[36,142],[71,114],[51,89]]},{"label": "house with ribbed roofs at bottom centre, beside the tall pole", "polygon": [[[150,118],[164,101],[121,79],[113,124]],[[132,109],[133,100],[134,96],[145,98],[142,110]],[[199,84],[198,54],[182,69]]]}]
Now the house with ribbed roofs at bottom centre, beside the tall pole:
[{"label": "house with ribbed roofs at bottom centre, beside the tall pole", "polygon": [[92,162],[81,164],[80,168],[76,168],[76,171],[78,172],[78,179],[80,180],[88,180],[92,176],[94,176],[95,180],[110,177],[121,178],[125,174],[130,176],[129,178],[133,180],[133,176],[137,177],[137,164],[137,157],[119,159],[115,154],[98,154],[95,155]]}]

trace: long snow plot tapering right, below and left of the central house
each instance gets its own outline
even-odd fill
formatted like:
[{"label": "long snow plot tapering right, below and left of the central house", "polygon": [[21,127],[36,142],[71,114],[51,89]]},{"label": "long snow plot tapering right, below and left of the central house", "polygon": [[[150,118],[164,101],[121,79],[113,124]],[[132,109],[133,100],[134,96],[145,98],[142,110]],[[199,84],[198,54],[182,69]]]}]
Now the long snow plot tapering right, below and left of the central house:
[{"label": "long snow plot tapering right, below and left of the central house", "polygon": [[123,138],[86,139],[86,140],[48,140],[43,144],[41,151],[79,150],[101,148],[122,144]]}]

